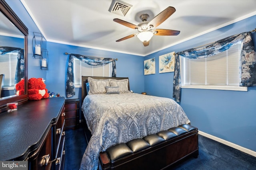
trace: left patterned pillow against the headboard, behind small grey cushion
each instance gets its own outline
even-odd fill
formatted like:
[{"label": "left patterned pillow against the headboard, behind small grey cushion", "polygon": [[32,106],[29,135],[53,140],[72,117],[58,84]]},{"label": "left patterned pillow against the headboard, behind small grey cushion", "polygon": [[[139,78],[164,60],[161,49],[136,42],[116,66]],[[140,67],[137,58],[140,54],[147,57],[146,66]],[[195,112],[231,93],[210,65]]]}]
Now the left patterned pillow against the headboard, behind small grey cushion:
[{"label": "left patterned pillow against the headboard, behind small grey cushion", "polygon": [[88,94],[106,94],[106,86],[110,86],[110,82],[108,79],[94,79],[91,77],[88,77],[89,82],[89,92]]}]

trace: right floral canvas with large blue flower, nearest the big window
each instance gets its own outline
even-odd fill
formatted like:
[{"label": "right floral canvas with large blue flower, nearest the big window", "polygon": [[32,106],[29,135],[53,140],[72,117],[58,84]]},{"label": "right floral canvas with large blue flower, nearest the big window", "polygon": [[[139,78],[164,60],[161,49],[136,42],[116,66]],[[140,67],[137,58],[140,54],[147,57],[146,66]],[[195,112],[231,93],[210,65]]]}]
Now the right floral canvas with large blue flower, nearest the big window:
[{"label": "right floral canvas with large blue flower, nearest the big window", "polygon": [[159,73],[174,72],[175,52],[159,56]]}]

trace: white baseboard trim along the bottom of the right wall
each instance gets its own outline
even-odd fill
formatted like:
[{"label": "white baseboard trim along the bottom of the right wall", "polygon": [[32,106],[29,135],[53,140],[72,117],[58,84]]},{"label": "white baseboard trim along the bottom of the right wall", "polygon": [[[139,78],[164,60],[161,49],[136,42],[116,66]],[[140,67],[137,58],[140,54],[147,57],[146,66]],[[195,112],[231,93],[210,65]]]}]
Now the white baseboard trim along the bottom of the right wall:
[{"label": "white baseboard trim along the bottom of the right wall", "polygon": [[234,143],[225,141],[224,139],[220,139],[220,138],[218,138],[218,137],[215,137],[215,136],[210,135],[210,134],[208,134],[208,133],[204,133],[204,132],[202,132],[202,131],[198,131],[198,134],[199,134],[199,135],[202,135],[202,136],[204,136],[204,137],[208,137],[208,138],[210,138],[210,139],[212,139],[212,140],[214,140],[214,141],[217,141],[217,142],[219,142],[219,143],[223,143],[224,145],[227,145],[227,146],[229,146],[229,147],[232,147],[232,148],[234,148],[234,149],[240,150],[240,151],[242,151],[242,152],[245,152],[245,153],[247,153],[247,154],[250,154],[250,155],[256,157],[256,152],[253,151],[253,150],[250,150],[250,149],[241,147],[241,146],[239,146],[239,145],[236,145],[236,144],[234,144]]}]

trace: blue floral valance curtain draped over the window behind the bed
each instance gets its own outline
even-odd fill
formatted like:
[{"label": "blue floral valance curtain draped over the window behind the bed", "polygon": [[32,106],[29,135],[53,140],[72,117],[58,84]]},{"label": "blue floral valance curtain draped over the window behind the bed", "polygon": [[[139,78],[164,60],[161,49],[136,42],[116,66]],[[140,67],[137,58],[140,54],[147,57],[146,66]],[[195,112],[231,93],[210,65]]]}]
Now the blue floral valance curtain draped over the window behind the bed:
[{"label": "blue floral valance curtain draped over the window behind the bed", "polygon": [[74,57],[80,61],[92,65],[92,66],[101,66],[103,64],[108,64],[112,62],[112,77],[116,77],[116,61],[112,58],[100,58],[100,57],[88,57],[78,54],[70,54],[68,59],[68,70],[67,70],[67,79],[66,79],[66,97],[70,98],[74,96],[75,86],[74,86]]}]

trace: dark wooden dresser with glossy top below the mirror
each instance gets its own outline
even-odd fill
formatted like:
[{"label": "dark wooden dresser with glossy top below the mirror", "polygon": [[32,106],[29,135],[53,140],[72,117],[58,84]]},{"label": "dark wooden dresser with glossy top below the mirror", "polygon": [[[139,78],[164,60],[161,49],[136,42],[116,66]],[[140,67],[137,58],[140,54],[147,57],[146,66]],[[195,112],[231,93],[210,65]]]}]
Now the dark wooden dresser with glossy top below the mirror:
[{"label": "dark wooden dresser with glossy top below the mirror", "polygon": [[28,101],[0,113],[0,160],[28,161],[28,170],[60,170],[65,160],[65,99]]}]

